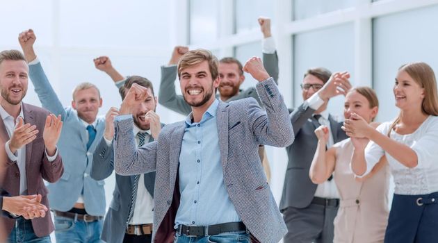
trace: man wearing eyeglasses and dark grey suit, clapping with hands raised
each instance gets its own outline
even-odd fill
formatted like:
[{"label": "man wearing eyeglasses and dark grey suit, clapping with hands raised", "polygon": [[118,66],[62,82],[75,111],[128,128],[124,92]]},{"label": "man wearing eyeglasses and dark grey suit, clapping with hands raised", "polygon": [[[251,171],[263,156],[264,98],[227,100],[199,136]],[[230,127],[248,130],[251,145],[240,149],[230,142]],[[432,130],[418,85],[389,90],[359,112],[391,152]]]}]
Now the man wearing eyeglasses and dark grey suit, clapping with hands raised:
[{"label": "man wearing eyeglasses and dark grey suit, clapping with hands raised", "polygon": [[329,127],[328,146],[347,138],[342,123],[328,113],[330,98],[350,90],[347,72],[331,74],[323,67],[309,69],[302,81],[304,102],[291,112],[295,142],[286,147],[289,162],[284,179],[280,210],[288,228],[284,242],[333,242],[333,220],[339,208],[334,181],[316,185],[309,178],[318,139],[314,130]]}]

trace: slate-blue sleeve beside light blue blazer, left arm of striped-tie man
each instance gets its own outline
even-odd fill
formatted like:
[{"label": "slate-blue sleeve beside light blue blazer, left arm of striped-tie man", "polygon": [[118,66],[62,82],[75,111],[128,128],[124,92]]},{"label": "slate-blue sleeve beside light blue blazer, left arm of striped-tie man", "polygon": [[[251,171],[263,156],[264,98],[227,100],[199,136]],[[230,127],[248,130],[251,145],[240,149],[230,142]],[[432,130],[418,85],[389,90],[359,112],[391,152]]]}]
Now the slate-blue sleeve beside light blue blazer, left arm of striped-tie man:
[{"label": "slate-blue sleeve beside light blue blazer, left arm of striped-tie man", "polygon": [[113,144],[108,146],[104,137],[100,140],[92,156],[91,178],[101,181],[111,176],[114,170]]}]

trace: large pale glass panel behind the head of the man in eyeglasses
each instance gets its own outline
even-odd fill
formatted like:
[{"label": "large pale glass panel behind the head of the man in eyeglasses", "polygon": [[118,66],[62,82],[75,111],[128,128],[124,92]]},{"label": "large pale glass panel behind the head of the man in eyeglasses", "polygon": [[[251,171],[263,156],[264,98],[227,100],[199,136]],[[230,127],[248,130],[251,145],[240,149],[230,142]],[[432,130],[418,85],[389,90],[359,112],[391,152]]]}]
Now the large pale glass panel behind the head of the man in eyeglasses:
[{"label": "large pale glass panel behind the head of the man in eyeglasses", "polygon": [[[294,107],[302,103],[302,78],[311,67],[325,67],[331,72],[350,72],[354,77],[353,24],[343,24],[323,30],[295,35],[293,42]],[[354,84],[354,80],[350,80]],[[327,110],[343,119],[343,96],[330,99]]]}]

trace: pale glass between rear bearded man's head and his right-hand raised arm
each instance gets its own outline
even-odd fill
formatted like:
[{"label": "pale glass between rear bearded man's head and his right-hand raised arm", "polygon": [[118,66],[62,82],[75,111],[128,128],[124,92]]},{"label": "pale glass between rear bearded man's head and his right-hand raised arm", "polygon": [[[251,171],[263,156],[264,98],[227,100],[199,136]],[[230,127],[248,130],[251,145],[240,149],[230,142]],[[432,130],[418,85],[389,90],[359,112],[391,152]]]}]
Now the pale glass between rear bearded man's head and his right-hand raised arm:
[{"label": "pale glass between rear bearded man's head and his right-hand raised arm", "polygon": [[[234,48],[234,57],[239,60],[242,65],[252,58],[253,56],[259,56],[261,58],[261,42],[252,42],[249,44],[243,44]],[[250,74],[245,73],[245,81],[241,85],[241,89],[245,90],[248,87],[254,87],[257,85],[256,81]]]}]

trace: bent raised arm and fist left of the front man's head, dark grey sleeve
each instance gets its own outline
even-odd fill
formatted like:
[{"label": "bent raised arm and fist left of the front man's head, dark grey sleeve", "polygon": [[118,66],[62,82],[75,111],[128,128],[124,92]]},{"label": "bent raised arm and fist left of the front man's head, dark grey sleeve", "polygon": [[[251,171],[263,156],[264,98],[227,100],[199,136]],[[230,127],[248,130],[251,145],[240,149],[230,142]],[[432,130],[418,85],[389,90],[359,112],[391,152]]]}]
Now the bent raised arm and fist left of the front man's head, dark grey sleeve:
[{"label": "bent raised arm and fist left of the front man's head, dark grey sleeve", "polygon": [[159,103],[182,115],[188,115],[192,108],[186,103],[182,95],[175,91],[175,79],[177,78],[177,64],[179,58],[188,51],[188,47],[175,47],[168,66],[161,67],[161,83],[159,89]]}]

